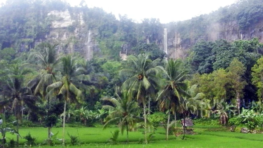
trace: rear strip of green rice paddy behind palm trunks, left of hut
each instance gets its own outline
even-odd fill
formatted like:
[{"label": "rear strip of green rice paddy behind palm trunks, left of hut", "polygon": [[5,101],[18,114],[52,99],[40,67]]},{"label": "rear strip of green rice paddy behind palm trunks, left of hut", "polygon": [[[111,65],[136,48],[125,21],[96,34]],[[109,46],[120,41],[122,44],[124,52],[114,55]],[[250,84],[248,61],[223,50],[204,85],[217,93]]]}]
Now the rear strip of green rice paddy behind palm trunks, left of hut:
[{"label": "rear strip of green rice paddy behind palm trunks, left of hut", "polygon": [[[69,133],[70,135],[75,135],[79,137],[79,142],[83,144],[89,144],[89,143],[107,143],[107,139],[109,139],[111,135],[111,131],[115,131],[118,128],[107,128],[105,130],[102,130],[102,128],[66,128],[66,134],[65,139],[66,142],[70,141]],[[57,138],[62,139],[62,128],[52,128],[52,133],[57,133]],[[158,129],[158,131],[163,131],[165,133],[164,129]],[[43,143],[45,139],[47,139],[47,128],[21,128],[19,130],[19,134],[21,137],[24,137],[30,132],[30,134],[36,138],[36,143]],[[155,134],[155,138],[153,140],[165,140],[164,134]],[[15,135],[8,134],[7,139],[16,139]],[[129,141],[130,142],[136,142],[139,141],[139,139],[144,138],[144,135],[142,132],[129,132]],[[169,136],[169,139],[175,139],[174,136]],[[124,132],[124,135],[119,136],[118,139],[119,142],[126,142],[126,131]],[[21,139],[20,143],[26,142],[25,139]]]}]

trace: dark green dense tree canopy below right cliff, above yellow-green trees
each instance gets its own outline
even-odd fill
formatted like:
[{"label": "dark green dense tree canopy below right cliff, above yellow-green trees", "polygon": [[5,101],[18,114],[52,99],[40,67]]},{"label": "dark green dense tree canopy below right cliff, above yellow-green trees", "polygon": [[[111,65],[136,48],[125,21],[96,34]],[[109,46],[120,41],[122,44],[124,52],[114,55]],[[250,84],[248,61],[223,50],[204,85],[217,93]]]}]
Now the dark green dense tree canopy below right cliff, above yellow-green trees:
[{"label": "dark green dense tree canopy below right cliff, above yellow-green trees", "polygon": [[[189,60],[193,72],[211,73],[213,70],[227,68],[234,58],[251,68],[259,54],[257,53],[261,44],[257,38],[238,40],[229,43],[226,40],[215,42],[200,41],[192,47],[192,54]],[[247,69],[250,71],[250,69]]]}]

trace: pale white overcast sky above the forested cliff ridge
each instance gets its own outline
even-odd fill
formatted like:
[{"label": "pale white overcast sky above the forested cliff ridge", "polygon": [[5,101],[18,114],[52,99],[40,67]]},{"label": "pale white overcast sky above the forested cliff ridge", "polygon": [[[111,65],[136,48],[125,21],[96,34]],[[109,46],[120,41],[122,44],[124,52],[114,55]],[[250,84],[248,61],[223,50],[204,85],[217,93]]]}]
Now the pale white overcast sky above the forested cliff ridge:
[{"label": "pale white overcast sky above the forested cliff ridge", "polygon": [[[6,0],[0,0],[0,4]],[[71,6],[78,6],[81,0],[66,0]],[[159,18],[161,23],[188,20],[207,14],[237,0],[85,0],[88,7],[100,7],[106,12],[127,14],[135,22],[143,18]]]}]

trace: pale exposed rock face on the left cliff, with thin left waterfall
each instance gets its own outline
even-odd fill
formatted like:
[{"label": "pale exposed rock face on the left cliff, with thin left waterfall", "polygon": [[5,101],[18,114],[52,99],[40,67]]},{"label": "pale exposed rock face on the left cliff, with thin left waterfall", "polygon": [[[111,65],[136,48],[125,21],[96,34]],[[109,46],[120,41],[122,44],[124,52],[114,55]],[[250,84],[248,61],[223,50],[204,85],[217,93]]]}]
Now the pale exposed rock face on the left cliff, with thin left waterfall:
[{"label": "pale exposed rock face on the left cliff, with thin left waterfall", "polygon": [[47,41],[59,43],[58,53],[80,52],[83,57],[90,60],[93,57],[93,50],[97,44],[93,39],[93,31],[83,20],[82,12],[50,11],[48,16],[54,17],[51,31],[46,35]]}]

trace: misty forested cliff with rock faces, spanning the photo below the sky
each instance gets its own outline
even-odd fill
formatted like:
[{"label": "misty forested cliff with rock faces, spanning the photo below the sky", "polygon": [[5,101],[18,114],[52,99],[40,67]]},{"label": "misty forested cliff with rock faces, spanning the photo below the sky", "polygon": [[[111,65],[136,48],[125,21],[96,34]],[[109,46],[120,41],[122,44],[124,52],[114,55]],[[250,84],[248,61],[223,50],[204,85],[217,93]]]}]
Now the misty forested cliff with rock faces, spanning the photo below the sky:
[{"label": "misty forested cliff with rock faces, spanning the photo below the sky", "polygon": [[120,52],[133,54],[143,43],[163,49],[163,32],[168,28],[168,56],[185,57],[188,49],[202,39],[257,37],[262,42],[262,3],[239,1],[191,20],[161,24],[150,18],[136,24],[128,16],[117,20],[100,8],[88,8],[84,1],[80,7],[71,7],[60,0],[8,0],[0,8],[0,45],[1,49],[28,51],[47,40],[60,43],[58,52],[79,51],[86,59],[110,55],[107,58],[119,60]]}]

